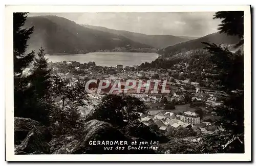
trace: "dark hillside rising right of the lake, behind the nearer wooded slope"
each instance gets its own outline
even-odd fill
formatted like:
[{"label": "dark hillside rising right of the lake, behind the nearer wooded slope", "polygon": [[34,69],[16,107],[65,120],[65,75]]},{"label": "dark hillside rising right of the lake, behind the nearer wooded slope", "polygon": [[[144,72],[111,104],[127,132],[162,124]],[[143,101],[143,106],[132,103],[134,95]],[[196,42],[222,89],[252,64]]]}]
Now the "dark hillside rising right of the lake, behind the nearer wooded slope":
[{"label": "dark hillside rising right of the lake, behind the nearer wooded slope", "polygon": [[[173,57],[182,52],[189,52],[191,50],[202,49],[205,45],[202,42],[219,44],[236,44],[239,38],[237,36],[228,36],[226,34],[214,33],[199,39],[189,40],[183,43],[172,45],[158,51],[163,58]],[[178,58],[178,57],[177,57]]]}]

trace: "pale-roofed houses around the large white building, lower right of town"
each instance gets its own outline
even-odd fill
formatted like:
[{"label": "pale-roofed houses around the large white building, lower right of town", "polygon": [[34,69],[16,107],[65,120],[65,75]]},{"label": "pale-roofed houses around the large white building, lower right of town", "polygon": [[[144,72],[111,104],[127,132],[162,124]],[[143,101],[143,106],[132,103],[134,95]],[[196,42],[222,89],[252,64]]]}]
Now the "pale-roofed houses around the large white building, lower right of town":
[{"label": "pale-roofed houses around the large white building, lower right of town", "polygon": [[149,116],[141,114],[140,121],[145,125],[156,124],[163,133],[174,129],[193,129],[197,134],[212,133],[216,130],[215,126],[210,122],[201,122],[200,117],[194,112],[184,112],[183,115],[175,115],[165,110],[156,115]]}]

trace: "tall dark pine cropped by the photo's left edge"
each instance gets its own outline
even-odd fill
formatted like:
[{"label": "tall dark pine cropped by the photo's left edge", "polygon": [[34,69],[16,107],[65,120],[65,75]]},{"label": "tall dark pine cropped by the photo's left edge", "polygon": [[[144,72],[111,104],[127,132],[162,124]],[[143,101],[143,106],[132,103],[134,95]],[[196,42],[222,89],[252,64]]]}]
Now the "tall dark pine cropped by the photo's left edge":
[{"label": "tall dark pine cropped by the photo's left edge", "polygon": [[23,70],[33,61],[34,51],[26,54],[27,42],[34,28],[22,29],[27,13],[13,13],[14,116],[26,117],[33,91]]}]

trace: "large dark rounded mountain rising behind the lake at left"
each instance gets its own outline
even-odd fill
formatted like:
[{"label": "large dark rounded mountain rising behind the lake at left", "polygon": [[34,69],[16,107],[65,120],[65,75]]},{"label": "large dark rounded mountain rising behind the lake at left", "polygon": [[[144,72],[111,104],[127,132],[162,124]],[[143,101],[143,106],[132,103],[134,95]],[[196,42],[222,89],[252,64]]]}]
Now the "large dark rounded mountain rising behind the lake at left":
[{"label": "large dark rounded mountain rising behind the lake at left", "polygon": [[28,17],[25,27],[30,26],[34,26],[34,32],[29,40],[29,49],[37,50],[42,45],[48,52],[87,53],[116,47],[152,48],[124,36],[92,30],[57,16]]}]

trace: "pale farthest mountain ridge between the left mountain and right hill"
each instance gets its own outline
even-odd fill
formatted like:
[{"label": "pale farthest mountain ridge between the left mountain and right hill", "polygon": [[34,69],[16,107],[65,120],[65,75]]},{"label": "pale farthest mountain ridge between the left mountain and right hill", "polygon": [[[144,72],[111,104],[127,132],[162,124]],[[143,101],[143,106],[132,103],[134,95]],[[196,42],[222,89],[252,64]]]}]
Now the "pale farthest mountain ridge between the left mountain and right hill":
[{"label": "pale farthest mountain ridge between the left mountain and right hill", "polygon": [[184,41],[188,41],[191,39],[195,39],[194,37],[185,37],[185,36],[177,37],[172,35],[145,35],[145,34],[128,32],[128,31],[112,30],[102,26],[93,26],[93,25],[83,25],[83,26],[93,30],[99,30],[103,32],[116,34],[116,35],[121,35],[135,42],[147,44],[159,49],[165,48],[167,46],[174,45],[177,43],[181,43]]}]

